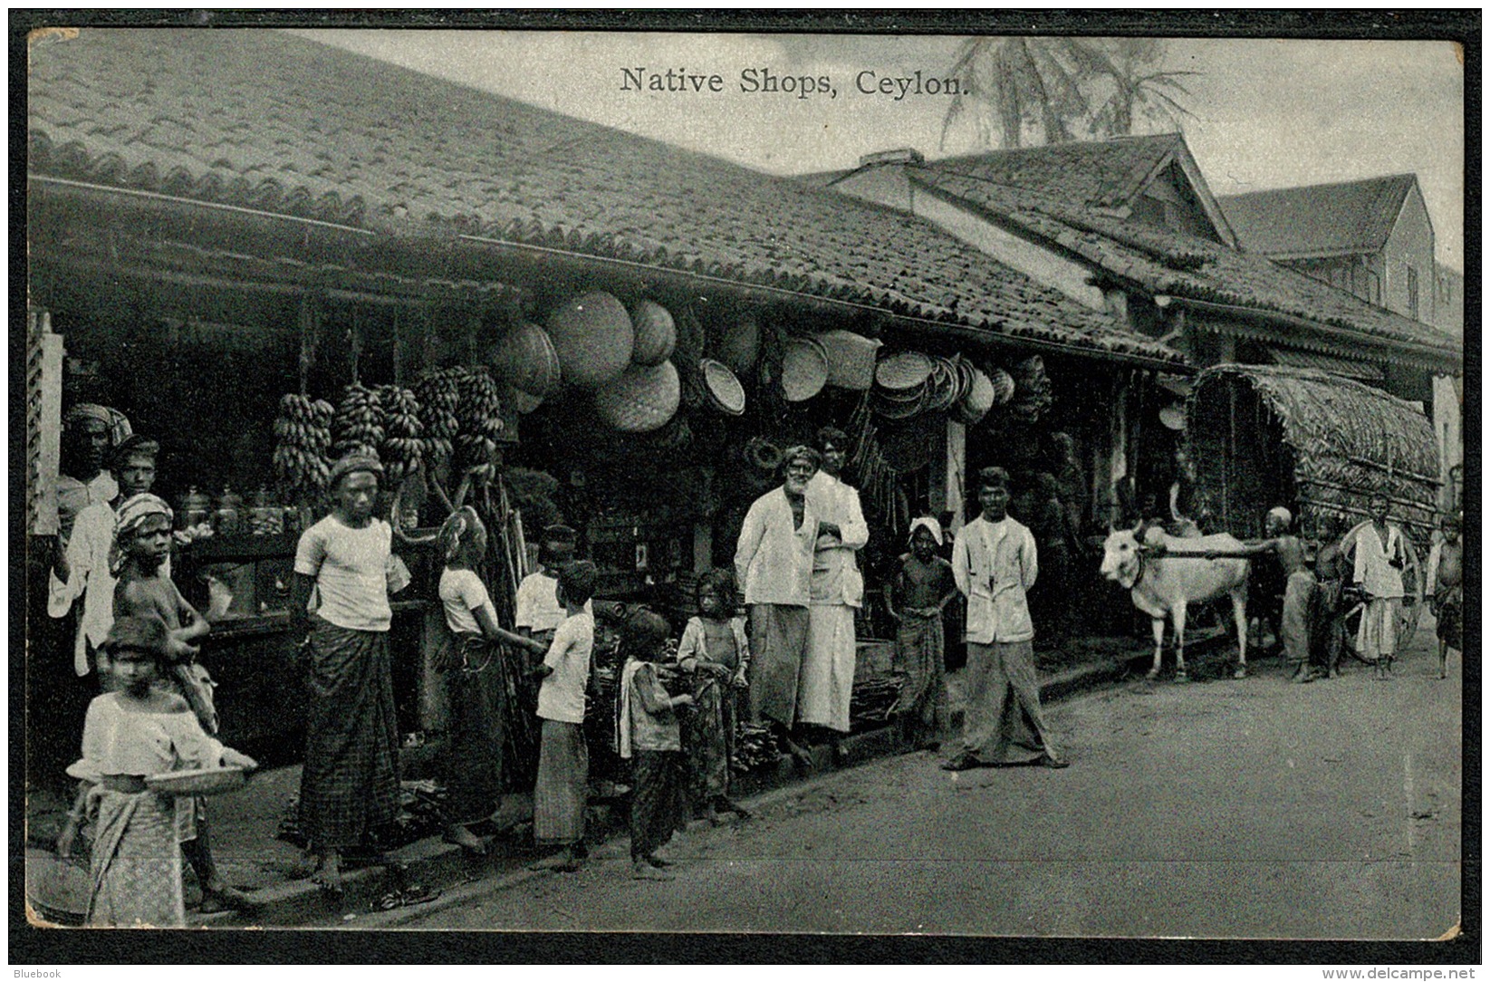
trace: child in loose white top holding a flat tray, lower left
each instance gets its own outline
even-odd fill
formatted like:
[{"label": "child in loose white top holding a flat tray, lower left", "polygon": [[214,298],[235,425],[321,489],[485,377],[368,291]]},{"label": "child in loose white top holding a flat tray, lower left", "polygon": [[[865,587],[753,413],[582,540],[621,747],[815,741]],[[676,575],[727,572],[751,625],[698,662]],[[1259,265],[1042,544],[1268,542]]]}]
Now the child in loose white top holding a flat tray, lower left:
[{"label": "child in loose white top holding a flat tray, lower left", "polygon": [[115,620],[104,645],[121,688],[89,703],[82,760],[67,769],[82,787],[57,851],[72,852],[86,806],[95,830],[88,924],[186,925],[176,830],[189,799],[149,791],[145,778],[221,764],[258,767],[207,736],[185,699],[155,687],[168,644],[158,617]]}]

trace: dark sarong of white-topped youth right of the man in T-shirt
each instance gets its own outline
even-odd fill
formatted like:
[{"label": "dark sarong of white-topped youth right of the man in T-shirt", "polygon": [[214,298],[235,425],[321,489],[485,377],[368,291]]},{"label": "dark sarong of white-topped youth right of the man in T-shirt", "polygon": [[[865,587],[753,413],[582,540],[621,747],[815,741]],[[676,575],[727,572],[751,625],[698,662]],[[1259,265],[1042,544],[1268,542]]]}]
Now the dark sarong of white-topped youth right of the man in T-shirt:
[{"label": "dark sarong of white-topped youth right of the man in T-shirt", "polygon": [[505,681],[502,650],[477,635],[456,635],[454,665],[446,671],[450,742],[441,776],[450,797],[444,818],[469,824],[489,818],[501,793],[507,727],[499,712]]}]

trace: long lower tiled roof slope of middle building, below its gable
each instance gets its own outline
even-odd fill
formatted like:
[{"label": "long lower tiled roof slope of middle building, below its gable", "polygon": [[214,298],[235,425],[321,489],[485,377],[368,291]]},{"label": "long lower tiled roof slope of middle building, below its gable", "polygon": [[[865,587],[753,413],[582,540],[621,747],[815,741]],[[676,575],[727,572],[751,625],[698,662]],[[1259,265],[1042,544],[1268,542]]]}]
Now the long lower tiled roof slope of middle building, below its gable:
[{"label": "long lower tiled roof slope of middle building, below its gable", "polygon": [[910,174],[924,188],[982,209],[1153,294],[1281,313],[1463,358],[1463,346],[1438,328],[1368,304],[1261,255],[983,180],[924,168],[912,168]]}]

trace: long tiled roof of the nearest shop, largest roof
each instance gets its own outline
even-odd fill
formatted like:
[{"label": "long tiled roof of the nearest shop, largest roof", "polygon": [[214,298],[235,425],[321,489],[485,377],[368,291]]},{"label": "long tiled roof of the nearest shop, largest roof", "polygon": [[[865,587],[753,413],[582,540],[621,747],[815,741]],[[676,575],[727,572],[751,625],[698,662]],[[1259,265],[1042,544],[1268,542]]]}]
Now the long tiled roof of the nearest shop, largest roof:
[{"label": "long tiled roof of the nearest shop, largest roof", "polygon": [[289,34],[85,28],[33,48],[28,97],[34,174],[1182,361],[921,219]]}]

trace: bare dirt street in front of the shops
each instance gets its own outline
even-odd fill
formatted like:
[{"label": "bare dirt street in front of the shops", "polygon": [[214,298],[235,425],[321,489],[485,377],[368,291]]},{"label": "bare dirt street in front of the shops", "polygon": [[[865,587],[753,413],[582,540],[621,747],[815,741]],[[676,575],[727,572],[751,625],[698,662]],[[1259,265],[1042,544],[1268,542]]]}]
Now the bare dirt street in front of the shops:
[{"label": "bare dirt street in front of the shops", "polygon": [[402,925],[1438,937],[1459,916],[1460,666],[1439,681],[1430,638],[1392,681],[1259,662],[1079,696],[1049,712],[1067,770],[895,757],[690,830],[663,851],[675,882],[632,881],[617,842]]}]

